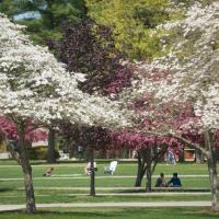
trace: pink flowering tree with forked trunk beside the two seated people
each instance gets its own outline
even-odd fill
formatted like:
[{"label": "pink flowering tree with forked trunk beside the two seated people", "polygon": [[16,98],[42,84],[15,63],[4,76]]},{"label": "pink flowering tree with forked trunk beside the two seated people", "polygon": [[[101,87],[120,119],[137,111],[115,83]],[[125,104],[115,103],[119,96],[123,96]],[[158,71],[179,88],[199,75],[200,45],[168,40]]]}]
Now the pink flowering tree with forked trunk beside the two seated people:
[{"label": "pink flowering tree with forked trunk beside the two seated people", "polygon": [[171,108],[169,104],[158,105],[151,93],[136,94],[139,89],[138,80],[148,79],[158,81],[165,77],[165,70],[145,69],[143,64],[132,65],[135,73],[132,77],[132,88],[128,88],[120,93],[129,107],[135,111],[136,127],[126,132],[118,132],[115,138],[115,143],[127,146],[137,151],[138,172],[136,186],[140,186],[142,177],[146,175],[146,191],[151,192],[151,176],[155,170],[157,163],[164,157],[168,150],[175,154],[183,149],[183,143],[172,136],[152,135],[154,132],[166,132],[166,130],[177,128],[183,124],[181,114],[184,108]]}]

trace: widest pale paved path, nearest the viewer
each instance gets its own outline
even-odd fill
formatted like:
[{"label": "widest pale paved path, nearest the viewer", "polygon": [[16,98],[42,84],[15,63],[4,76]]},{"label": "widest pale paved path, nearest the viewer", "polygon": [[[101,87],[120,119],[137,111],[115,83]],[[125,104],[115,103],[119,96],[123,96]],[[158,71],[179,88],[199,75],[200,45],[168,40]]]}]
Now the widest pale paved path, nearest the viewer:
[{"label": "widest pale paved path, nearest the viewer", "polygon": [[[37,208],[93,208],[93,207],[209,207],[210,201],[159,201],[159,203],[56,203],[38,204]],[[0,205],[0,211],[24,209],[25,205]]]}]

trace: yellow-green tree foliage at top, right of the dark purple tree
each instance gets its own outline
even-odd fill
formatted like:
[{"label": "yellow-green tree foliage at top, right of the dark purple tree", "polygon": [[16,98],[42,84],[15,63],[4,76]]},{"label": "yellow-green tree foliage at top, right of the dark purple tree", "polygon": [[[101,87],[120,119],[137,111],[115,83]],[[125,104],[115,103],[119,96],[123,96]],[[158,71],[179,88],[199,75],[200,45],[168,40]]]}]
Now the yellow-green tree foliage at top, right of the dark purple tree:
[{"label": "yellow-green tree foliage at top, right of the dark purple tree", "polygon": [[118,49],[131,59],[151,59],[161,48],[154,27],[170,20],[168,0],[87,0],[89,15],[108,25]]}]

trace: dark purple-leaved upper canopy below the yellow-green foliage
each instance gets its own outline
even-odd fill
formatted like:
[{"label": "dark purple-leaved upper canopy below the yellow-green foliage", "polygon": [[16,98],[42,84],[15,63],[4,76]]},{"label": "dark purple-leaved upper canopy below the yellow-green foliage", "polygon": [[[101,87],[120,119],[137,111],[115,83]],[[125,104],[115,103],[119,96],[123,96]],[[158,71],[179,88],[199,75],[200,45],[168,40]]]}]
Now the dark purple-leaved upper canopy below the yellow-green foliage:
[{"label": "dark purple-leaved upper canopy below the yellow-green foliage", "polygon": [[87,74],[80,83],[83,91],[115,94],[128,85],[130,70],[122,65],[124,56],[107,26],[87,18],[77,24],[66,22],[62,30],[62,37],[53,49],[69,71]]}]

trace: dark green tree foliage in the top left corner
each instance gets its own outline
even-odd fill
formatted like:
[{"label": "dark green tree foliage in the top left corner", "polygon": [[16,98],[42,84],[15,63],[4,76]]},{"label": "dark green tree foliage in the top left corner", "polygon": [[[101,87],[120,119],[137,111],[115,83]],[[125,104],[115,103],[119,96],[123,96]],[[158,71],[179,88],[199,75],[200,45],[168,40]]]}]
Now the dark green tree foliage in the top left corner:
[{"label": "dark green tree foliage in the top left corner", "polygon": [[[46,45],[49,39],[60,38],[62,21],[78,22],[87,14],[87,9],[84,0],[1,0],[0,12],[26,25],[26,32],[32,39],[37,44]],[[15,19],[21,14],[24,16],[27,12],[37,12],[41,16]]]}]

